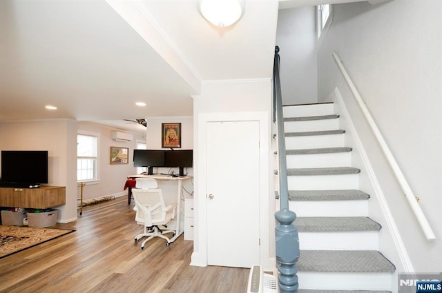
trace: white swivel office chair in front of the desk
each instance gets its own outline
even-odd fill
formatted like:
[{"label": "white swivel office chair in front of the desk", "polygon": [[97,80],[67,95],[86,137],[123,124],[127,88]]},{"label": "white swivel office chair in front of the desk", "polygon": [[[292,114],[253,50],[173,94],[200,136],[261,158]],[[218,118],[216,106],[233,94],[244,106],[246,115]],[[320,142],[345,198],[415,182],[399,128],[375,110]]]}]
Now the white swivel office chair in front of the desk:
[{"label": "white swivel office chair in front of the desk", "polygon": [[[154,180],[154,179],[152,179]],[[137,182],[138,184],[138,182]],[[166,224],[172,219],[175,219],[175,212],[177,203],[173,203],[166,207],[164,197],[160,189],[133,189],[133,198],[135,199],[135,207],[137,213],[135,214],[135,221],[144,226],[144,232],[135,236],[135,243],[140,241],[144,236],[148,236],[141,244],[141,249],[144,250],[144,245],[153,237],[161,237],[166,239],[166,245],[171,243],[171,239],[164,236],[166,233],[173,233],[174,230],[161,230],[160,225],[167,228]]]}]

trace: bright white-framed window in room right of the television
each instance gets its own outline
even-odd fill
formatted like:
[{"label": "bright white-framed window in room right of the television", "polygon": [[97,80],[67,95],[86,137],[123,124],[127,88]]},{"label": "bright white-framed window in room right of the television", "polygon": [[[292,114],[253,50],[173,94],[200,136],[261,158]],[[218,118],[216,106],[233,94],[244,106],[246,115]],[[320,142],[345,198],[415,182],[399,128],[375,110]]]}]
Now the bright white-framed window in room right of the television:
[{"label": "bright white-framed window in room right of the television", "polygon": [[98,137],[77,134],[77,181],[98,179]]}]

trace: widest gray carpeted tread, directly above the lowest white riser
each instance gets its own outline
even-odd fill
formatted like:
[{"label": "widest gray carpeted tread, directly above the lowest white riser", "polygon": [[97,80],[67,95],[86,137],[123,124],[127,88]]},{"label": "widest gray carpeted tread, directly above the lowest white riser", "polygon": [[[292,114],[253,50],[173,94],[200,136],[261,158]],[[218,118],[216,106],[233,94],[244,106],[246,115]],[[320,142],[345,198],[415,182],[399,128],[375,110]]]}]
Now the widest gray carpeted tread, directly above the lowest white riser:
[{"label": "widest gray carpeted tread, directly above the lowest white riser", "polygon": [[376,250],[301,250],[300,272],[394,272],[396,267]]}]

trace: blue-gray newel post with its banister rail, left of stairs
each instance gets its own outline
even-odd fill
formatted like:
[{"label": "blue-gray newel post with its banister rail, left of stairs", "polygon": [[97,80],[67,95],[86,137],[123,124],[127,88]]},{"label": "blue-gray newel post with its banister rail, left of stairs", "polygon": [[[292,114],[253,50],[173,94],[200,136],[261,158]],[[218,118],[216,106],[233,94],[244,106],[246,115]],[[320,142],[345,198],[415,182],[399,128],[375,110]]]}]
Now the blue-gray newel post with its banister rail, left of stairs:
[{"label": "blue-gray newel post with its banister rail, left of stairs", "polygon": [[275,213],[276,263],[278,265],[278,285],[280,293],[298,291],[298,276],[296,262],[299,259],[298,229],[292,223],[296,219],[295,212],[289,210],[289,188],[287,184],[287,161],[285,157],[284,119],[282,117],[282,97],[279,78],[279,47],[275,48],[275,61],[273,64],[273,106],[276,106],[276,121],[278,128],[278,154],[279,154],[279,184],[280,184],[280,210]]}]

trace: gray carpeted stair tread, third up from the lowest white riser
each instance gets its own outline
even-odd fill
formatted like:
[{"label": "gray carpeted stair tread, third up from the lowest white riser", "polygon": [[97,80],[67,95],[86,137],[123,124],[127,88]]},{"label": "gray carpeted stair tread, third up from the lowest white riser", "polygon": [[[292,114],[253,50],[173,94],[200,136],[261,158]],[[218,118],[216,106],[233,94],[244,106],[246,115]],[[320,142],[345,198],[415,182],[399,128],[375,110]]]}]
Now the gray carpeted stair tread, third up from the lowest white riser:
[{"label": "gray carpeted stair tread, third up from the lowest white riser", "polygon": [[289,190],[290,201],[357,201],[369,199],[361,190]]}]

